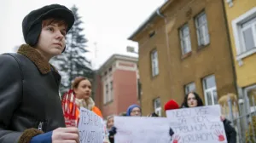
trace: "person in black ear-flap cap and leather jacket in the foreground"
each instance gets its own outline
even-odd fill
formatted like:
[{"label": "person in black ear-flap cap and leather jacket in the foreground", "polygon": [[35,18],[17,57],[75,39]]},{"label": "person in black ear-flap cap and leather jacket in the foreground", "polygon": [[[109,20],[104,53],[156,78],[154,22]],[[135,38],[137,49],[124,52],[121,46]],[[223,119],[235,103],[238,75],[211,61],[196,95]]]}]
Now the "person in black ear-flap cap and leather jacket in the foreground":
[{"label": "person in black ear-flap cap and leather jacket in the foreground", "polygon": [[61,76],[49,64],[65,51],[74,20],[59,4],[35,9],[22,21],[26,44],[15,54],[0,55],[0,142],[79,143],[79,130],[65,128]]}]

